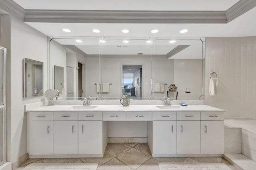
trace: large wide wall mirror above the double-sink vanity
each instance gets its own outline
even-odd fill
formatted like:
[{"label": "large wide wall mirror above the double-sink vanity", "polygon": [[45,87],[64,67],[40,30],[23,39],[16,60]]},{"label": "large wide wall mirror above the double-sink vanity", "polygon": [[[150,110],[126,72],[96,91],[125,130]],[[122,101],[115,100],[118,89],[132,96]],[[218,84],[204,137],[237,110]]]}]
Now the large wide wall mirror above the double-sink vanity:
[{"label": "large wide wall mirror above the double-sink vanity", "polygon": [[50,41],[50,50],[51,66],[64,68],[63,88],[68,94],[63,99],[123,94],[162,98],[170,84],[178,87],[177,92],[168,93],[170,98],[203,99],[204,42],[200,38],[58,37]]}]

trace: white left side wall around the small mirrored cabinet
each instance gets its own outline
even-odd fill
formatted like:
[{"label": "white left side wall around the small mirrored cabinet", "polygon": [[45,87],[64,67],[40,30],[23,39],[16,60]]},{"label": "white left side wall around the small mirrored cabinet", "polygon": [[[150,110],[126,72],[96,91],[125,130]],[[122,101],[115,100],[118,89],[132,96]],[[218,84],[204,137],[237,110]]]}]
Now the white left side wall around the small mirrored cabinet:
[{"label": "white left side wall around the small mirrored cabinet", "polygon": [[47,87],[47,41],[46,36],[24,22],[11,19],[10,48],[10,95],[11,115],[10,139],[11,161],[14,163],[27,153],[27,122],[24,105],[41,101],[41,97],[23,99],[23,64],[24,58],[44,63],[44,89]]}]

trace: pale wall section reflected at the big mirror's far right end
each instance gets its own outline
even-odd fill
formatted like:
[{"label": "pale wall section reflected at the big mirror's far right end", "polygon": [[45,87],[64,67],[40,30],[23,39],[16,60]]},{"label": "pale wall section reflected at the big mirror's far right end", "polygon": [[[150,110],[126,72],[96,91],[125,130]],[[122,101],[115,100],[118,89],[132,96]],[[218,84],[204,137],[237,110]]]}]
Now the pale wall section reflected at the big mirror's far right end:
[{"label": "pale wall section reflected at the big mirror's far right end", "polygon": [[[174,59],[173,84],[178,87],[178,98],[198,99],[202,94],[202,60]],[[186,88],[191,93],[185,93]],[[176,93],[174,94],[176,95]]]}]

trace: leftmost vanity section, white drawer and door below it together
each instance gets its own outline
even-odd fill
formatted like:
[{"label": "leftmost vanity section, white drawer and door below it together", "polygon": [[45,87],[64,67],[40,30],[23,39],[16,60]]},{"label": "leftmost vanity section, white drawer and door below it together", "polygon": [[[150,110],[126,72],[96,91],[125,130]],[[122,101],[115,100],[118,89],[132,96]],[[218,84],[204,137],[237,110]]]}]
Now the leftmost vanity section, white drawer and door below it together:
[{"label": "leftmost vanity section, white drawer and door below it together", "polygon": [[28,153],[52,155],[54,145],[53,112],[30,112],[28,115]]}]

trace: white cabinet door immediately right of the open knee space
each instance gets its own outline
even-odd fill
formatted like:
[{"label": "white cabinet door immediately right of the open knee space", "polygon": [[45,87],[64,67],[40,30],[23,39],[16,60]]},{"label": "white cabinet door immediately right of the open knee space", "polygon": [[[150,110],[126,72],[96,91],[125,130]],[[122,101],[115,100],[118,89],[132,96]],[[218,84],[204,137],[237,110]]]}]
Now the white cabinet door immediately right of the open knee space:
[{"label": "white cabinet door immediately right of the open knee space", "polygon": [[153,154],[176,154],[176,121],[153,121]]}]

